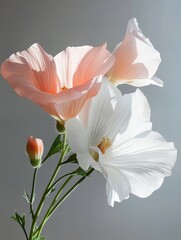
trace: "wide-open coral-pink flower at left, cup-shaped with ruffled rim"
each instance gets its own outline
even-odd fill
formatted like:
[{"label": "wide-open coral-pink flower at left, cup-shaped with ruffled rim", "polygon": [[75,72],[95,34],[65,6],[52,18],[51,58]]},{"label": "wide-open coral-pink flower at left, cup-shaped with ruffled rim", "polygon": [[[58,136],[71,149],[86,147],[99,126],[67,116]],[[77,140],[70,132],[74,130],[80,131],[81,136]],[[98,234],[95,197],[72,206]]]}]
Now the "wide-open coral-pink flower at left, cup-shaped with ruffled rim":
[{"label": "wide-open coral-pink flower at left, cup-shaped with ruffled rim", "polygon": [[2,64],[1,73],[18,95],[62,121],[76,116],[85,101],[98,93],[100,75],[113,61],[106,44],[68,47],[53,58],[35,43],[11,55]]}]

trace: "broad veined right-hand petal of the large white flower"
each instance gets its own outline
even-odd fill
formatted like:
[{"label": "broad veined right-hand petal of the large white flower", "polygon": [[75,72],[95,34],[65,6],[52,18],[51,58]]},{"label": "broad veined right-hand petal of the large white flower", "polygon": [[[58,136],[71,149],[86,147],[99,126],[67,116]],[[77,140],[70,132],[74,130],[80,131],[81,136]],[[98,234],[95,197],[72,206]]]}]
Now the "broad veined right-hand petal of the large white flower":
[{"label": "broad veined right-hand petal of the large white flower", "polygon": [[112,146],[112,159],[105,164],[120,168],[130,182],[131,192],[147,197],[171,174],[176,161],[173,143],[156,132],[145,132]]}]

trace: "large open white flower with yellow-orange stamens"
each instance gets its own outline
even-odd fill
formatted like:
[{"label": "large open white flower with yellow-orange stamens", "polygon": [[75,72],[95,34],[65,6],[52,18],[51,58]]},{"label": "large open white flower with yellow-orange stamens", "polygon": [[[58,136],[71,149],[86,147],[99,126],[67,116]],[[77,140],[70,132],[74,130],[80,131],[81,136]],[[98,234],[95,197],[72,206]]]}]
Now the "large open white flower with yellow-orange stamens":
[{"label": "large open white flower with yellow-orange stamens", "polygon": [[92,166],[105,177],[109,205],[130,193],[148,197],[171,174],[176,149],[151,127],[143,93],[122,96],[106,79],[99,94],[67,121],[68,141],[80,166]]}]

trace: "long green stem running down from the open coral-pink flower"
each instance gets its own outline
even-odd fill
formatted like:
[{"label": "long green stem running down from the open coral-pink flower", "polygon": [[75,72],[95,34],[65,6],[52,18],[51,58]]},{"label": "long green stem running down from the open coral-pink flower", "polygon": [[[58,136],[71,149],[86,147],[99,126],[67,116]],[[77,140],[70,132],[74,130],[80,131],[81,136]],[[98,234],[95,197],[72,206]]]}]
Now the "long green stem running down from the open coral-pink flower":
[{"label": "long green stem running down from the open coral-pink flower", "polygon": [[38,216],[39,216],[39,214],[40,214],[40,212],[41,212],[41,209],[42,209],[42,207],[43,207],[43,205],[44,205],[45,198],[46,198],[47,194],[49,193],[48,190],[50,189],[50,186],[52,185],[52,183],[53,183],[53,181],[54,181],[57,173],[58,173],[59,170],[60,170],[61,162],[62,162],[62,160],[63,160],[63,158],[64,158],[64,156],[65,156],[65,154],[66,154],[66,150],[67,150],[66,147],[65,147],[65,144],[66,144],[66,135],[64,134],[63,148],[62,148],[61,157],[60,157],[60,160],[59,160],[59,162],[58,162],[58,164],[57,164],[57,166],[56,166],[56,168],[55,168],[55,170],[54,170],[54,172],[53,172],[53,175],[52,175],[52,177],[51,177],[51,179],[50,179],[47,187],[45,188],[45,191],[44,191],[44,193],[43,193],[43,196],[42,196],[42,198],[41,198],[41,200],[40,200],[40,203],[39,203],[39,205],[38,205],[38,207],[37,207],[37,210],[36,210],[36,213],[35,213],[35,215],[34,215],[34,219],[33,219],[32,225],[31,225],[29,240],[32,240],[32,238],[33,238],[33,233],[34,233],[34,229],[35,229],[35,226],[36,226],[36,220],[37,220],[37,218],[38,218]]}]

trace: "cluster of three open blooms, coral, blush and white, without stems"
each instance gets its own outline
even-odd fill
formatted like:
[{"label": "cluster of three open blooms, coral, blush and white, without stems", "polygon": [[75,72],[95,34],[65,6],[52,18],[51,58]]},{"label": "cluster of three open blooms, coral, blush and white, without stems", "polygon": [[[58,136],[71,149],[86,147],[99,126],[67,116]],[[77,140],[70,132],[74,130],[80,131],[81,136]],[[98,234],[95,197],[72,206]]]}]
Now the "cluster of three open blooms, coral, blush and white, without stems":
[{"label": "cluster of three open blooms, coral, blush and white, without stems", "polygon": [[80,167],[103,174],[108,203],[114,206],[130,193],[147,197],[158,189],[171,174],[176,149],[152,131],[149,104],[141,90],[122,95],[117,88],[163,85],[155,76],[160,54],[136,19],[128,22],[113,53],[106,47],[68,47],[52,57],[33,44],[11,55],[1,73],[18,95],[65,127]]}]

